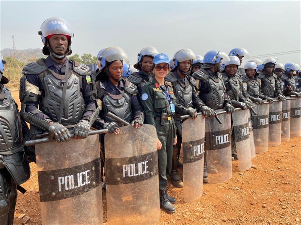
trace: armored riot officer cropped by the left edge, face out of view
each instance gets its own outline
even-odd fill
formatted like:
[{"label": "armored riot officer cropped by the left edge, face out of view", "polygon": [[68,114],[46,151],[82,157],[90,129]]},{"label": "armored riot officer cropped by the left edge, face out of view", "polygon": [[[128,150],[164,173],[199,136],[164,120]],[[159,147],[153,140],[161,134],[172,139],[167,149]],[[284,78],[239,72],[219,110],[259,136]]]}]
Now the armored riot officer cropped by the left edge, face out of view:
[{"label": "armored riot officer cropped by the left edge, face out of view", "polygon": [[0,54],[0,224],[11,225],[14,223],[17,185],[29,179],[30,168],[18,106],[4,86],[8,83],[3,74],[5,63]]}]

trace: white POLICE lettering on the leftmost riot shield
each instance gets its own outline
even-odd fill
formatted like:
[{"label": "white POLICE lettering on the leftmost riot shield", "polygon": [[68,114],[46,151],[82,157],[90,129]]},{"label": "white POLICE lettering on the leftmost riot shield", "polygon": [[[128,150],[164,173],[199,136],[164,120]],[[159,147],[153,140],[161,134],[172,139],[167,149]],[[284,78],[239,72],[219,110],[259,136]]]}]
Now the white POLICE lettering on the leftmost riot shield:
[{"label": "white POLICE lettering on the leftmost riot shield", "polygon": [[62,186],[63,188],[65,187],[65,190],[71,190],[89,184],[90,181],[88,180],[88,172],[90,172],[90,170],[77,173],[76,179],[74,179],[73,174],[64,177],[58,177],[58,191],[62,191]]}]

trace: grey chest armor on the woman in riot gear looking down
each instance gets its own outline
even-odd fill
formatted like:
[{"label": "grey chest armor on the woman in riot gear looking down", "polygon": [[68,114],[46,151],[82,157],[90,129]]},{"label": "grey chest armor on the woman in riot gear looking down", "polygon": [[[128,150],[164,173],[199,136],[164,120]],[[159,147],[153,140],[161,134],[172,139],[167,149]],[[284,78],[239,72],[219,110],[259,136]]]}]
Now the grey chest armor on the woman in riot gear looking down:
[{"label": "grey chest armor on the woman in riot gear looking down", "polygon": [[[108,112],[111,112],[119,118],[130,123],[133,118],[131,109],[131,94],[129,94],[127,91],[123,91],[123,94],[112,95],[111,93],[105,91],[105,88],[101,82],[100,89],[102,89],[101,91],[104,91],[104,94],[102,95],[101,118],[105,118],[106,122],[115,121],[111,117],[106,116]],[[99,93],[99,89],[97,91]]]}]

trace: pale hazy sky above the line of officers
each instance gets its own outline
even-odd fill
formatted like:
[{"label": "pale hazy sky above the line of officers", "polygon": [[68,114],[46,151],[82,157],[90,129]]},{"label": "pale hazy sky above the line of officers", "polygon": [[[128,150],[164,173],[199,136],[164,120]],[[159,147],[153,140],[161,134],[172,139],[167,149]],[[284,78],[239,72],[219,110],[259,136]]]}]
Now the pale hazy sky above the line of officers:
[{"label": "pale hazy sky above the line of officers", "polygon": [[[154,46],[172,58],[183,48],[245,48],[250,56],[301,49],[301,1],[4,1],[0,0],[0,49],[42,48],[42,22],[58,16],[74,33],[73,54],[124,49],[130,64]],[[301,53],[277,55],[300,63]],[[259,58],[259,57],[256,57]],[[264,61],[266,57],[259,58]],[[244,60],[246,62],[247,60]],[[243,62],[243,64],[244,64]]]}]

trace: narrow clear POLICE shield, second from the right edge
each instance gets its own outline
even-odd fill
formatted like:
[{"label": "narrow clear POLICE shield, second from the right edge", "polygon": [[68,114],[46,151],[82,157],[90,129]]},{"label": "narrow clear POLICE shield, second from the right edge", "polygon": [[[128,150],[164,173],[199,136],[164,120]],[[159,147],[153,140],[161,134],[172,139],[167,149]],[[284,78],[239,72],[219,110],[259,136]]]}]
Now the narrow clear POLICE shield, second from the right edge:
[{"label": "narrow clear POLICE shield, second from the right edge", "polygon": [[282,102],[281,142],[290,140],[290,101]]}]

